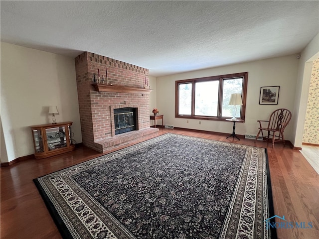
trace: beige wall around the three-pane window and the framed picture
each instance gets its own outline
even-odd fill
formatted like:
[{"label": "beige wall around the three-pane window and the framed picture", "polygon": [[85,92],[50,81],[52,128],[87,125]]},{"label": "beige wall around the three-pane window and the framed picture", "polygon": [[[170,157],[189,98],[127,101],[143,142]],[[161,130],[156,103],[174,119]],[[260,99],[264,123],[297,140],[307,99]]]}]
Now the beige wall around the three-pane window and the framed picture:
[{"label": "beige wall around the three-pane window and the framed picture", "polygon": [[[161,114],[164,115],[165,124],[172,124],[175,127],[182,128],[231,133],[231,122],[175,118],[175,81],[249,72],[245,122],[236,123],[236,133],[257,134],[258,119],[269,119],[270,114],[278,108],[294,110],[298,62],[297,55],[290,55],[158,77],[157,106]],[[259,105],[260,87],[263,86],[280,86],[278,105]],[[189,123],[187,123],[187,120]],[[294,120],[292,119],[292,121]],[[199,124],[199,121],[201,121],[201,124]],[[293,140],[292,131],[292,125],[289,125],[285,131],[287,140]]]}]

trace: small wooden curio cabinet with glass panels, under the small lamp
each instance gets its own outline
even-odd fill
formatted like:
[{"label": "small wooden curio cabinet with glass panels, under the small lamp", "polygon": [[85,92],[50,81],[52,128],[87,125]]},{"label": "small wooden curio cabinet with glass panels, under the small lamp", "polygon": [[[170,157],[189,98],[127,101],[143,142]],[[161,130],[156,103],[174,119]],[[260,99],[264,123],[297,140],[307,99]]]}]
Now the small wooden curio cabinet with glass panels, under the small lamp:
[{"label": "small wooden curio cabinet with glass panels, under the small lamp", "polygon": [[47,158],[74,150],[71,142],[72,122],[48,123],[31,126],[34,157]]}]

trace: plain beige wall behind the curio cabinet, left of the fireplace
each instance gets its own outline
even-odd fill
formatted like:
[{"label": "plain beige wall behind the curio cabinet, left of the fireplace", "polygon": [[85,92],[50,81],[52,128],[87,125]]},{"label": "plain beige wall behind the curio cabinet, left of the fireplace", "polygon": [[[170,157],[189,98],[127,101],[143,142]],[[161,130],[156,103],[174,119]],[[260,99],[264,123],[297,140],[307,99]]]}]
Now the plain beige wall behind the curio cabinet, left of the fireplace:
[{"label": "plain beige wall behind the curio cabinet, left of the fireplace", "polygon": [[[74,59],[1,42],[1,123],[7,159],[33,154],[30,125],[73,121],[73,138],[82,142]],[[2,149],[1,149],[2,151]],[[3,160],[3,161],[2,161]]]}]

